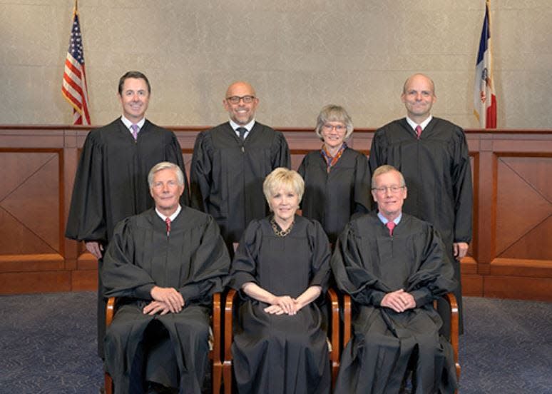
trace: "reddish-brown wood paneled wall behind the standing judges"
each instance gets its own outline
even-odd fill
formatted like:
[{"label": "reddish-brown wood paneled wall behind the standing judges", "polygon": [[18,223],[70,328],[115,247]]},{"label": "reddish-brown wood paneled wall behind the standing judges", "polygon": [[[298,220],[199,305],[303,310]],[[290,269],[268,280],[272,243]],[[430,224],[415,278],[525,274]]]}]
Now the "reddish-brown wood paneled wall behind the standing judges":
[{"label": "reddish-brown wood paneled wall behind the standing judges", "polygon": [[[175,130],[189,166],[196,134]],[[320,148],[306,128],[279,128],[292,165]],[[349,145],[369,153],[373,130]],[[92,290],[96,261],[63,237],[87,128],[0,126],[0,293]],[[552,130],[466,131],[474,174],[474,241],[464,294],[552,300]]]}]

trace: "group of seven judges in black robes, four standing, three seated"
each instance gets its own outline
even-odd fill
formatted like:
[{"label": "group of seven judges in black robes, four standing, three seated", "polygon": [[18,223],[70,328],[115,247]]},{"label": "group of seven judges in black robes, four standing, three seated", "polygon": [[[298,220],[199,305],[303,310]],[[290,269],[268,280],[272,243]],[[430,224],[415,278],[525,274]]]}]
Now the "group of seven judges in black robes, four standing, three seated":
[{"label": "group of seven judges in black robes, four standing, three seated", "polygon": [[431,116],[428,76],[404,83],[407,116],[376,131],[369,159],[347,146],[347,111],[324,106],[322,147],[298,172],[282,133],[255,120],[255,90],[235,82],[229,121],[198,133],[190,185],[174,133],[145,118],[150,94],[144,74],[121,77],[123,115],[88,133],[66,227],[98,258],[98,354],[116,393],[201,393],[210,299],[226,287],[240,296],[238,392],[329,393],[330,283],[354,303],[335,393],[454,392],[433,301],[461,301],[471,169],[464,131]]}]

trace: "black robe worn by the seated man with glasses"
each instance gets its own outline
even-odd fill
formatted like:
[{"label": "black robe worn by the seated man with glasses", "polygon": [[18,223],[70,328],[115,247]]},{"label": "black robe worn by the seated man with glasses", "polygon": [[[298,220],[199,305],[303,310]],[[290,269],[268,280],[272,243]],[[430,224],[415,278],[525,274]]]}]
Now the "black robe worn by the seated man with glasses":
[{"label": "black robe worn by the seated man with glasses", "polygon": [[[369,213],[347,225],[331,265],[354,305],[335,393],[399,393],[409,361],[415,393],[454,393],[453,350],[439,335],[442,321],[432,303],[456,286],[439,233],[403,213],[389,236],[377,213]],[[416,308],[397,313],[380,306],[386,293],[401,288]]]}]

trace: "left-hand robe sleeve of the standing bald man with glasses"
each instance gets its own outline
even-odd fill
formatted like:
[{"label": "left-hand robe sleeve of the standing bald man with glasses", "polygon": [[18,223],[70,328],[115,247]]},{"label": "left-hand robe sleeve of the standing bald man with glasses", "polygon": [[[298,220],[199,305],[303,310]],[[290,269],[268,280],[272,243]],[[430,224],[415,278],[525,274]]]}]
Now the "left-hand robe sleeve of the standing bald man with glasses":
[{"label": "left-hand robe sleeve of the standing bald man with glasses", "polygon": [[212,177],[212,163],[205,131],[198,133],[193,147],[190,167],[190,196],[192,208],[206,212]]}]

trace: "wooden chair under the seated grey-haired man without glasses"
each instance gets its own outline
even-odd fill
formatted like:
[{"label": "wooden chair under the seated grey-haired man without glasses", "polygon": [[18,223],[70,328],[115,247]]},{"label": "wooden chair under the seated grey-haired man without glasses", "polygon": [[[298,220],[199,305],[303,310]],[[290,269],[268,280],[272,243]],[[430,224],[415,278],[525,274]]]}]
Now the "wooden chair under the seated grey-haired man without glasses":
[{"label": "wooden chair under the seated grey-haired man without glasses", "polygon": [[[106,309],[106,327],[109,327],[113,321],[113,316],[116,312],[116,298],[110,297]],[[213,365],[212,381],[213,394],[220,394],[220,385],[223,379],[223,363],[220,359],[220,318],[222,310],[220,308],[220,293],[213,294],[213,315],[211,316],[211,329],[213,330],[213,338],[209,338],[209,359]],[[104,385],[106,394],[113,394],[113,380],[106,372],[104,374]]]}]

